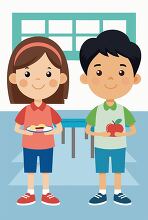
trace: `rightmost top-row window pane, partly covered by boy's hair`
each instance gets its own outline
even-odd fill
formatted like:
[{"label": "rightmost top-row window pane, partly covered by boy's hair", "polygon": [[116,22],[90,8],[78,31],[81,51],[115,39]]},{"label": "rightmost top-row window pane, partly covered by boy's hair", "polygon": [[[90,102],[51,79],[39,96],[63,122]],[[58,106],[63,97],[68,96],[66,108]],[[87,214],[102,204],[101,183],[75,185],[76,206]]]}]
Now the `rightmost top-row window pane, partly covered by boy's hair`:
[{"label": "rightmost top-row window pane, partly covered by boy's hair", "polygon": [[103,30],[115,29],[126,33],[126,20],[104,20]]}]

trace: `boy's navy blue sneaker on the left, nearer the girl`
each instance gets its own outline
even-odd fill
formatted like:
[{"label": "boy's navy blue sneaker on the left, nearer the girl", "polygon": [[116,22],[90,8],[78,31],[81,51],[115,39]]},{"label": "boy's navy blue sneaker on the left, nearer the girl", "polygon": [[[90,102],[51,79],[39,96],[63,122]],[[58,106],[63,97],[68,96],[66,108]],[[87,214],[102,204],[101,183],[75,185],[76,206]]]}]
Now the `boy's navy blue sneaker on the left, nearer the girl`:
[{"label": "boy's navy blue sneaker on the left, nearer the girl", "polygon": [[91,198],[89,200],[89,205],[92,205],[92,206],[97,206],[97,205],[103,205],[107,202],[107,196],[106,194],[103,195],[101,193],[98,193],[96,194],[93,198]]}]

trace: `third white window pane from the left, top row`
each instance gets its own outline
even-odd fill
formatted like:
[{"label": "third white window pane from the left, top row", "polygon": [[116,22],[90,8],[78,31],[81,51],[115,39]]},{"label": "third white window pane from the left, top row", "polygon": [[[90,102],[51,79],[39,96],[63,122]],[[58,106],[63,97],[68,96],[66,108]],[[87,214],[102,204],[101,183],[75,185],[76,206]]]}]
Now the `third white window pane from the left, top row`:
[{"label": "third white window pane from the left, top row", "polygon": [[99,20],[77,20],[76,33],[77,34],[99,34],[100,22]]}]

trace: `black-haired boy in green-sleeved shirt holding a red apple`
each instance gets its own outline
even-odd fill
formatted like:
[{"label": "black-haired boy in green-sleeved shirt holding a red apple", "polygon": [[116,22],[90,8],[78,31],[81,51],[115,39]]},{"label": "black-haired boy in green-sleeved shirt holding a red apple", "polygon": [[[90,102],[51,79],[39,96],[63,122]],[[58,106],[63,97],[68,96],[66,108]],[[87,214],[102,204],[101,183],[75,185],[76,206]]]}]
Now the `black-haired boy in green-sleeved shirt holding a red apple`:
[{"label": "black-haired boy in green-sleeved shirt holding a red apple", "polygon": [[[86,133],[95,138],[96,173],[100,177],[99,193],[89,205],[107,202],[106,173],[109,157],[114,173],[114,202],[131,205],[131,200],[121,191],[121,173],[125,172],[126,137],[136,133],[135,118],[115,99],[126,95],[141,80],[137,74],[141,61],[139,47],[128,36],[117,30],[104,31],[97,38],[84,42],[80,50],[80,63],[84,74],[81,82],[106,101],[88,115]],[[129,127],[127,132],[125,127]],[[94,127],[94,132],[91,128]]]}]

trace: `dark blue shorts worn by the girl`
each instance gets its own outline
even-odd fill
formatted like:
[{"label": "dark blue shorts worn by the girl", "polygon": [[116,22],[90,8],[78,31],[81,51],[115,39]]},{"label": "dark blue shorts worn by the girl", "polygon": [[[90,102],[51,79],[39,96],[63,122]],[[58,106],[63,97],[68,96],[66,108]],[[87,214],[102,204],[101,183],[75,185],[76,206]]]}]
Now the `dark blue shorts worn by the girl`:
[{"label": "dark blue shorts worn by the girl", "polygon": [[36,173],[37,157],[39,157],[39,161],[40,161],[40,172],[52,173],[53,148],[49,148],[45,150],[33,150],[33,149],[23,148],[23,154],[24,154],[25,173]]}]

